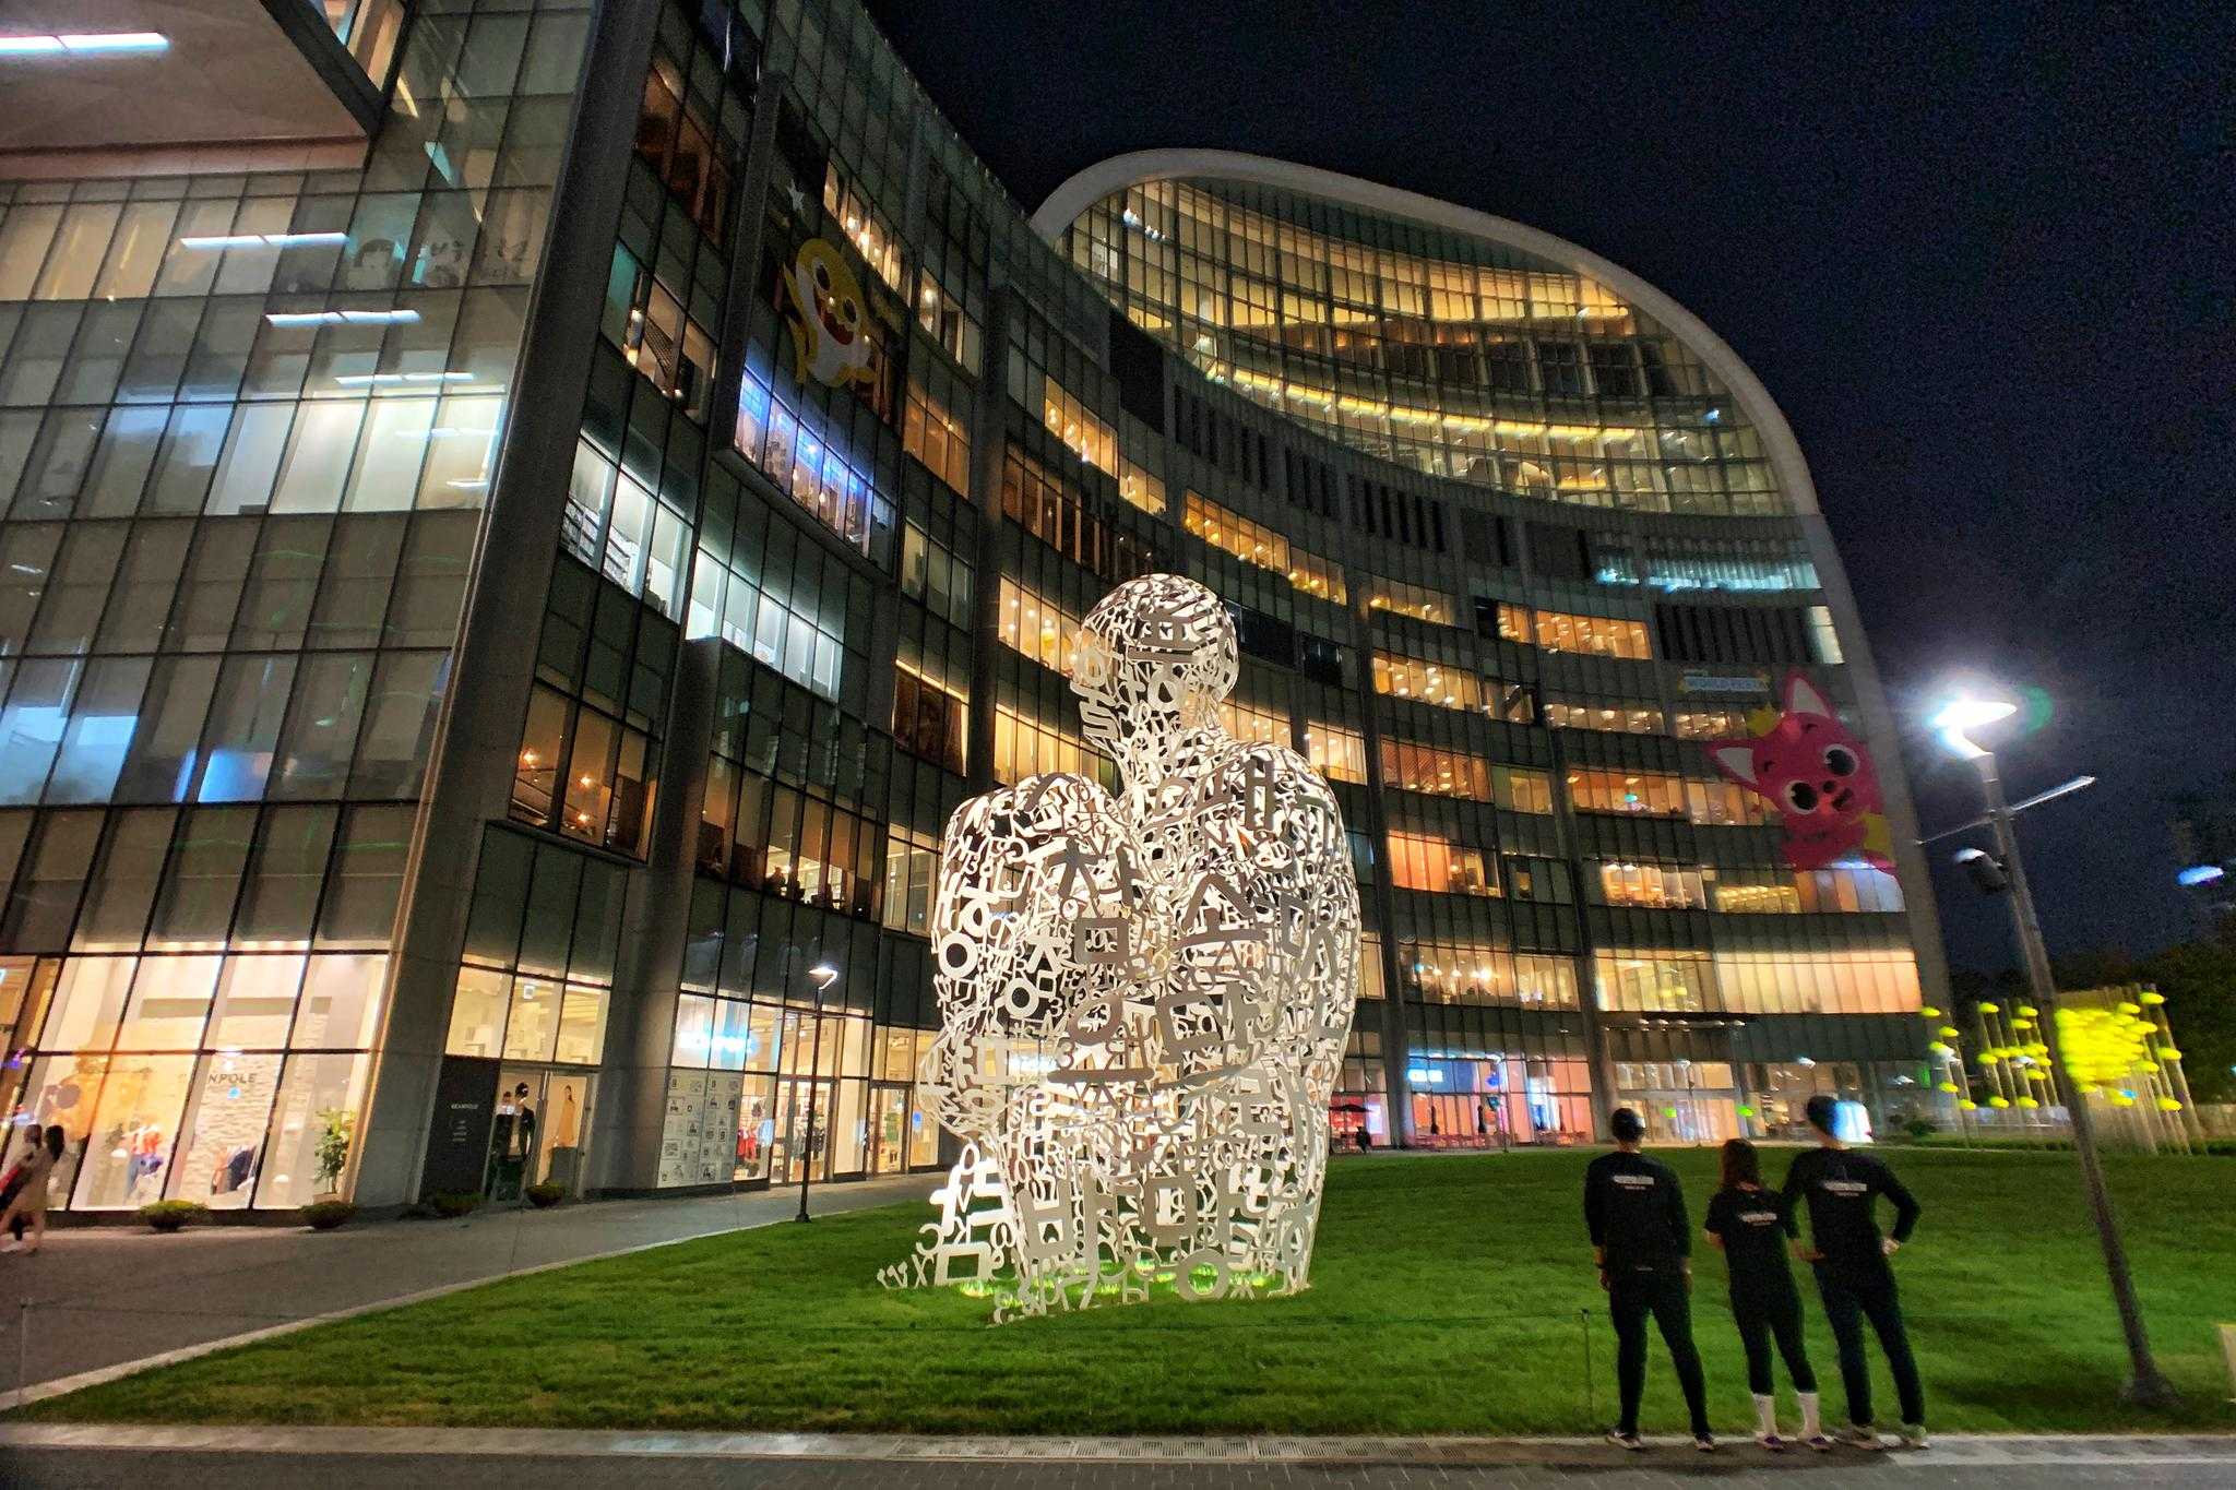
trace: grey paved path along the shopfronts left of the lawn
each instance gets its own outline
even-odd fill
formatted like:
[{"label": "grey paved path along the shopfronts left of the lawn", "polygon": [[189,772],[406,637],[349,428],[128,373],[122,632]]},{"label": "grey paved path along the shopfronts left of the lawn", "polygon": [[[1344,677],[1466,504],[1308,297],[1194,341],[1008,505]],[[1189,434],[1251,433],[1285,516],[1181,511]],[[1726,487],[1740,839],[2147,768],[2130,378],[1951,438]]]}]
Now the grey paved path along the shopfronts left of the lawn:
[{"label": "grey paved path along the shopfronts left of the lawn", "polygon": [[[921,1200],[937,1175],[823,1184],[814,1213]],[[49,1229],[38,1255],[0,1255],[0,1410],[25,1387],[203,1347],[248,1331],[364,1311],[508,1273],[785,1222],[798,1191],[606,1200],[476,1211],[456,1222],[203,1226],[179,1235]],[[25,1329],[29,1309],[29,1327]],[[45,1383],[45,1385],[42,1385]],[[87,1385],[87,1383],[76,1383]]]}]

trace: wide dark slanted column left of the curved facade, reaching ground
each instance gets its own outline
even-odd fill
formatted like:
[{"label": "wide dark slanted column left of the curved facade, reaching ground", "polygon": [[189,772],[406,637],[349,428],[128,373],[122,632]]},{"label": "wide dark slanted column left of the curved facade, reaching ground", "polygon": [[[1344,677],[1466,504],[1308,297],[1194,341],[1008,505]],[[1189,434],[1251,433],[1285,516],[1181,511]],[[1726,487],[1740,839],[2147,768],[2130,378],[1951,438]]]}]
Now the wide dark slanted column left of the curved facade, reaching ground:
[{"label": "wide dark slanted column left of the curved facade, reaching ground", "polygon": [[566,516],[581,398],[597,346],[657,22],[653,4],[604,0],[528,302],[505,436],[474,550],[427,789],[398,898],[380,1050],[351,1195],[364,1206],[418,1200],[429,1108],[449,1030],[458,952],[474,900],[483,824],[505,815],[534,650]]}]

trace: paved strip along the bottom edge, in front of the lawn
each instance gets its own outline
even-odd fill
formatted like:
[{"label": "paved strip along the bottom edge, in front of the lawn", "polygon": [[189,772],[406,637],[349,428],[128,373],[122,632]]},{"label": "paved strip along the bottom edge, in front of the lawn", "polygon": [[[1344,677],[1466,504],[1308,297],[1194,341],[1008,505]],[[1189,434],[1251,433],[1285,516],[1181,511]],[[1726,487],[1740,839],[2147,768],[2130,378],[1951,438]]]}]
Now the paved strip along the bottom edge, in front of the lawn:
[{"label": "paved strip along the bottom edge, in front of the lawn", "polygon": [[2236,1439],[1981,1439],[1927,1452],[1771,1456],[1753,1445],[1623,1454],[1583,1439],[921,1439],[418,1427],[0,1425],[22,1486],[1550,1486],[1646,1490],[1702,1479],[1807,1486],[2229,1486]]}]

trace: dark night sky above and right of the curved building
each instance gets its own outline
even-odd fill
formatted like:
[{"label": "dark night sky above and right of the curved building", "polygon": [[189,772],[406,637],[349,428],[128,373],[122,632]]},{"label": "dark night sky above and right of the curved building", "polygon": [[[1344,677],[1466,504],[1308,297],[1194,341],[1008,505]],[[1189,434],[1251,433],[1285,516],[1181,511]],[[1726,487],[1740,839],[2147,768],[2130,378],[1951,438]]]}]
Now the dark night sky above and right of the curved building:
[{"label": "dark night sky above and right of the curved building", "polygon": [[[2236,7],[1212,9],[872,4],[1026,210],[1127,150],[1245,150],[1668,290],[1793,422],[1896,713],[2033,686],[2010,795],[2100,777],[2021,820],[2053,952],[2191,934],[2167,795],[2236,766]],[[1910,735],[1925,831],[1974,815]],[[2003,967],[1952,847],[1950,958]]]}]

